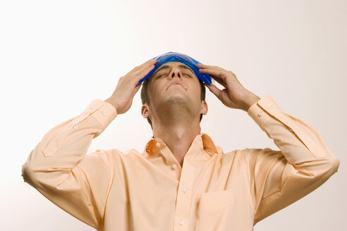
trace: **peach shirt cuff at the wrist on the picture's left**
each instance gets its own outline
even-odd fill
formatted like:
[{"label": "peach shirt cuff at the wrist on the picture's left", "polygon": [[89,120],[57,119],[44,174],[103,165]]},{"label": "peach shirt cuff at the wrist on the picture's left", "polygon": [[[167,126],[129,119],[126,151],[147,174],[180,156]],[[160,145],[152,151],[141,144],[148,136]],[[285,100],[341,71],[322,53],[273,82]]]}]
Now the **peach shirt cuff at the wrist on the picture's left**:
[{"label": "peach shirt cuff at the wrist on the picture's left", "polygon": [[116,108],[102,99],[93,99],[83,113],[87,113],[97,119],[103,130],[118,116]]}]

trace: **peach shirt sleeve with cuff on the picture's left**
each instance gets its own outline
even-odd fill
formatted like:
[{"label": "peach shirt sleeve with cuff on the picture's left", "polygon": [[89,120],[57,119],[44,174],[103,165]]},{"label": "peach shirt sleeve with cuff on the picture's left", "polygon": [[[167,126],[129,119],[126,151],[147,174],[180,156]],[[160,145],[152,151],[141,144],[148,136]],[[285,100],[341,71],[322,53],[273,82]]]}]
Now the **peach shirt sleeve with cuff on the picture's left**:
[{"label": "peach shirt sleeve with cuff on the picture's left", "polygon": [[112,156],[102,149],[85,154],[116,116],[114,106],[92,100],[79,116],[49,130],[22,166],[24,182],[97,230],[113,180]]}]

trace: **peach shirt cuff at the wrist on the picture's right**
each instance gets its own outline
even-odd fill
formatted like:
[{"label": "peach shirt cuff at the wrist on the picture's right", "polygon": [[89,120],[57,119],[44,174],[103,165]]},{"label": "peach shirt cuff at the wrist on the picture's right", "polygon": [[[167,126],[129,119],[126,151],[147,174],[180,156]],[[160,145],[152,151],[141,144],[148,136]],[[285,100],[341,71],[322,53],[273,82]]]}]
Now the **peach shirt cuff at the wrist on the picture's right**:
[{"label": "peach shirt cuff at the wrist on the picture's right", "polygon": [[267,95],[258,100],[255,104],[252,104],[247,111],[252,120],[260,126],[264,131],[264,125],[267,123],[272,115],[276,113],[283,113],[281,108],[275,103],[271,96]]}]

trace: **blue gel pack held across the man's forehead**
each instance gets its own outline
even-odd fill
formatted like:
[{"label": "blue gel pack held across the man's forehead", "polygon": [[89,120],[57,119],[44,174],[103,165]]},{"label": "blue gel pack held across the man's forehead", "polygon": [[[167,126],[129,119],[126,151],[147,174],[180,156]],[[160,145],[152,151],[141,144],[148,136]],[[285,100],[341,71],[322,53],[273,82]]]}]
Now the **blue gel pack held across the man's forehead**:
[{"label": "blue gel pack held across the man's forehead", "polygon": [[141,82],[147,80],[147,78],[150,77],[161,65],[163,65],[164,63],[169,63],[169,62],[181,62],[181,63],[184,63],[185,65],[188,65],[188,67],[193,70],[195,75],[200,80],[202,80],[202,82],[207,83],[207,85],[212,85],[211,76],[209,76],[206,73],[200,73],[199,71],[200,68],[197,66],[197,63],[200,63],[200,62],[196,61],[194,58],[191,58],[190,56],[170,51],[168,53],[162,54],[152,59],[157,59],[157,63],[154,64],[153,70],[151,70],[150,73],[148,73],[145,77],[142,78],[142,80],[138,82],[138,85],[140,85]]}]

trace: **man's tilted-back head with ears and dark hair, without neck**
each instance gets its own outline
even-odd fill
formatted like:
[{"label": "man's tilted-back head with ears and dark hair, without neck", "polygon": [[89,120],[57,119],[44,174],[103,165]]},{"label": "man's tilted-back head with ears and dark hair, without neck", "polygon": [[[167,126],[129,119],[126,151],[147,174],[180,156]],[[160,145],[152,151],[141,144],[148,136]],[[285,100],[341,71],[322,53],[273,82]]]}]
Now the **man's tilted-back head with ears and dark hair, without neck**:
[{"label": "man's tilted-back head with ears and dark hair, without neck", "polygon": [[[173,82],[178,84],[171,85]],[[151,118],[159,107],[178,106],[192,116],[200,116],[201,121],[207,113],[205,94],[204,83],[187,65],[176,61],[164,63],[142,83],[142,116],[152,127]]]}]

